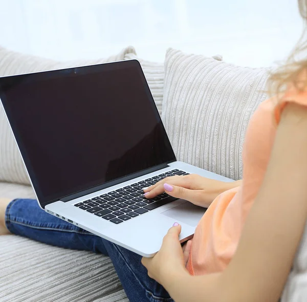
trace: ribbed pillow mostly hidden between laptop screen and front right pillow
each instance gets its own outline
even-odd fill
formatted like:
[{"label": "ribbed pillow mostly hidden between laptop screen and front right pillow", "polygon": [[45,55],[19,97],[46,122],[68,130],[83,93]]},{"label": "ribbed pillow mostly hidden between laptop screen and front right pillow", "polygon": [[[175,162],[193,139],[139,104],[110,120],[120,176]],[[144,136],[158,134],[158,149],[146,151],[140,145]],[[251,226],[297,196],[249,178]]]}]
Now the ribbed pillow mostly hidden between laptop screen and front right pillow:
[{"label": "ribbed pillow mostly hidden between laptop screen and front right pillow", "polygon": [[[215,60],[222,60],[221,55],[215,55],[212,58]],[[140,62],[152,97],[155,100],[159,114],[162,115],[162,102],[163,102],[163,87],[164,87],[164,64],[156,63],[138,58],[135,53],[127,53],[125,60],[136,59]]]}]

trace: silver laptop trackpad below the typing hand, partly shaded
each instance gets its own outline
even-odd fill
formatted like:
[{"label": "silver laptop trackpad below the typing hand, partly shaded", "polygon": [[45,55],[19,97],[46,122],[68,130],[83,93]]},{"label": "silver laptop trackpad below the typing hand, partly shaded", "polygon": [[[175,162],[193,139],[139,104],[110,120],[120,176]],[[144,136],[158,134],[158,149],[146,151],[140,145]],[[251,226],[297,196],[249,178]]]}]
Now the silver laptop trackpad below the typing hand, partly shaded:
[{"label": "silver laptop trackpad below the typing hand, partly shaded", "polygon": [[161,214],[194,227],[199,223],[206,210],[206,208],[195,206],[190,202],[185,202],[177,207],[161,212]]}]

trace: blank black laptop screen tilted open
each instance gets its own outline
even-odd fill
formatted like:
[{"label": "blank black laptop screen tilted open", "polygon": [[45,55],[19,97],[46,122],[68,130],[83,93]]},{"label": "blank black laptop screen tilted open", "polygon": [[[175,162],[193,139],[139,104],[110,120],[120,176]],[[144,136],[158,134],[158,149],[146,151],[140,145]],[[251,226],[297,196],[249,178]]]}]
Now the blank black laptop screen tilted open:
[{"label": "blank black laptop screen tilted open", "polygon": [[136,60],[0,78],[41,204],[176,161]]}]

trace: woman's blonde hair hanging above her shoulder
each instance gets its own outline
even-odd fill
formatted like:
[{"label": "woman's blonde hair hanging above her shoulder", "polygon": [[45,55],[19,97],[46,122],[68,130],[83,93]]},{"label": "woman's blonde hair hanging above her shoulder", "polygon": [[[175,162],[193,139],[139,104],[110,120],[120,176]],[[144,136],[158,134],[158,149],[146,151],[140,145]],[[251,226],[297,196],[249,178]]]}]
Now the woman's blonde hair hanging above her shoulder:
[{"label": "woman's blonde hair hanging above her shoulder", "polygon": [[[298,6],[300,15],[306,24],[307,0],[298,0]],[[307,50],[306,36],[307,26],[305,25],[305,29],[286,63],[270,74],[268,91],[271,95],[282,94],[289,84],[294,84],[295,88],[299,91],[303,91],[307,88],[307,77],[303,77],[304,80],[299,79],[299,75],[307,71],[307,58],[298,58],[299,55],[302,55],[303,52]]]}]

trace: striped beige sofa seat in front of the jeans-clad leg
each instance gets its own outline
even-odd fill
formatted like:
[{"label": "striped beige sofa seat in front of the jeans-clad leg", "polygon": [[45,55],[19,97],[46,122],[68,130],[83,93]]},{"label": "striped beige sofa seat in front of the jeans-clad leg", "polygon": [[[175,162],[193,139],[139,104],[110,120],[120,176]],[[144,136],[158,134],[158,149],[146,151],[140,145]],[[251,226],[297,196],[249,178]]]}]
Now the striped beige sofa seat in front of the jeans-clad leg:
[{"label": "striped beige sofa seat in front of the jeans-clad leg", "polygon": [[16,235],[0,236],[0,247],[1,302],[128,301],[106,256]]}]

